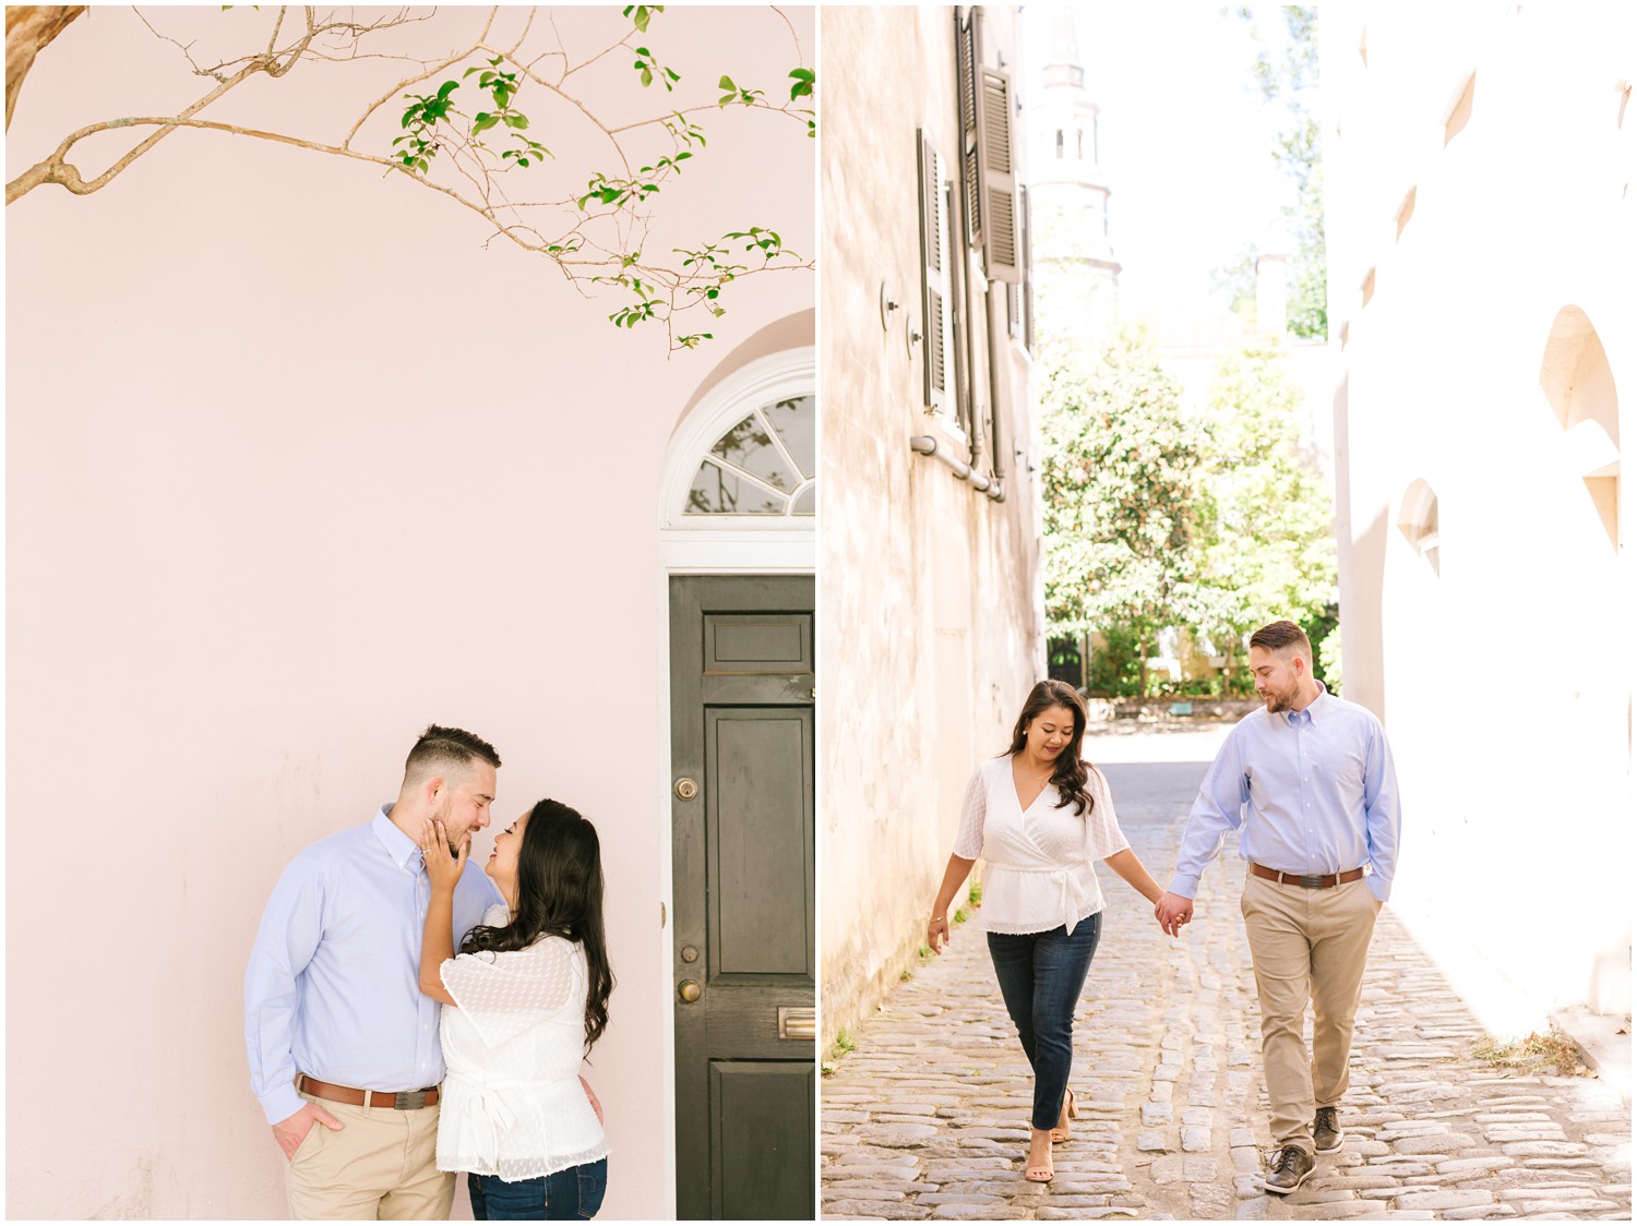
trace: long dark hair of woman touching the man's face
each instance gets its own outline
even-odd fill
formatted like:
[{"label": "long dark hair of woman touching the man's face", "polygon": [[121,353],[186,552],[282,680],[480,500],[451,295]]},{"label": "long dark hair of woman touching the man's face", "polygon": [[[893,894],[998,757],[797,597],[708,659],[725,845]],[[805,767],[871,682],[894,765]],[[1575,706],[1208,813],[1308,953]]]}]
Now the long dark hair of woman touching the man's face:
[{"label": "long dark hair of woman touching the man's face", "polygon": [[540,936],[579,941],[586,951],[586,1051],[609,1025],[607,938],[602,931],[602,850],[598,830],[558,800],[540,800],[529,810],[517,850],[517,913],[504,926],[478,925],[460,943],[460,953],[527,949]]}]

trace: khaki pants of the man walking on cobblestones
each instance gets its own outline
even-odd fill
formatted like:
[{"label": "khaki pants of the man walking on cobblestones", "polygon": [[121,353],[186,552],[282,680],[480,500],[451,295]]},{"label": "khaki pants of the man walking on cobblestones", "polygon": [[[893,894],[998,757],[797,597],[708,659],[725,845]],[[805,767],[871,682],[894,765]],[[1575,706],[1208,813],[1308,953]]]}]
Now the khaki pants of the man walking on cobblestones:
[{"label": "khaki pants of the man walking on cobblestones", "polygon": [[[1347,1092],[1352,1020],[1375,931],[1367,877],[1311,890],[1246,874],[1244,931],[1262,1000],[1262,1069],[1274,1143],[1313,1154],[1313,1111]],[[1301,1020],[1313,1000],[1313,1056]]]}]

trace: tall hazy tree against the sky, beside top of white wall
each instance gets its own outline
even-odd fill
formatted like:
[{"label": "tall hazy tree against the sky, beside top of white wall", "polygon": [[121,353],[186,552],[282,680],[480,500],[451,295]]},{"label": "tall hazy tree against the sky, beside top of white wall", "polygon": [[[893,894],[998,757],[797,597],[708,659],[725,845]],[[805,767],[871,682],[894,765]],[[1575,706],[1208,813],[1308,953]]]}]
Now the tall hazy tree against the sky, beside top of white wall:
[{"label": "tall hazy tree against the sky, beside top of white wall", "polygon": [[[1311,5],[1283,5],[1285,38],[1275,49],[1262,36],[1256,11],[1239,7],[1234,15],[1257,43],[1252,65],[1257,88],[1269,101],[1285,106],[1285,126],[1272,157],[1290,178],[1292,196],[1283,205],[1290,332],[1298,337],[1329,336],[1324,275],[1324,164],[1319,157],[1319,124],[1313,100],[1319,83],[1318,10]],[[1256,249],[1239,249],[1234,260],[1211,275],[1231,308],[1249,316],[1256,308]]]}]

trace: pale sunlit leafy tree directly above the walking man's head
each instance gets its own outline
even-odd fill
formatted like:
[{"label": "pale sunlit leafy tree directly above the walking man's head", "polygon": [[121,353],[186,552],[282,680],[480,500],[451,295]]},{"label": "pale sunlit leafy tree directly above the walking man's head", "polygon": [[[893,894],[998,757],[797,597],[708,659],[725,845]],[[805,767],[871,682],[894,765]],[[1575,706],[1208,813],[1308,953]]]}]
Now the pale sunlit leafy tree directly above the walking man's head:
[{"label": "pale sunlit leafy tree directly above the walking man's head", "polygon": [[1316,625],[1336,601],[1334,512],[1323,473],[1301,455],[1300,408],[1278,350],[1247,349],[1218,367],[1202,444],[1195,612],[1229,669],[1256,627],[1272,617]]}]

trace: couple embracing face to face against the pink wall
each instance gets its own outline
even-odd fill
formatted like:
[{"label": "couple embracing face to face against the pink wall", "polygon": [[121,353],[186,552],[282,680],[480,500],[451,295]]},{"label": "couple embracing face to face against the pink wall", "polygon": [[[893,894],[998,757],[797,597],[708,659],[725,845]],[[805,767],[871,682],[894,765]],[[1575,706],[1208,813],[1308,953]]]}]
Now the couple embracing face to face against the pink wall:
[{"label": "couple embracing face to face against the pink wall", "polygon": [[579,1077],[614,989],[598,832],[540,800],[480,869],[499,764],[429,727],[396,802],[273,887],[244,1028],[293,1218],[447,1218],[455,1172],[478,1219],[602,1203],[602,1108]]}]

